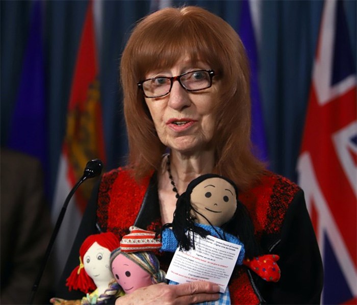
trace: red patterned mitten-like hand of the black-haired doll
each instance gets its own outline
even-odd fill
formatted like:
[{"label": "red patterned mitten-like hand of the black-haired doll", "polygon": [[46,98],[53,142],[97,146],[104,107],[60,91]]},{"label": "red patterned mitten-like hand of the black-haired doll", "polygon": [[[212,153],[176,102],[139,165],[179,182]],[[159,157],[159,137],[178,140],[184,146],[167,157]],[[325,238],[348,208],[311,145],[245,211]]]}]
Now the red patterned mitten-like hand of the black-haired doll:
[{"label": "red patterned mitten-like hand of the black-haired doll", "polygon": [[251,260],[246,259],[243,264],[256,272],[267,282],[277,282],[280,278],[280,268],[276,264],[279,256],[274,254],[262,255]]}]

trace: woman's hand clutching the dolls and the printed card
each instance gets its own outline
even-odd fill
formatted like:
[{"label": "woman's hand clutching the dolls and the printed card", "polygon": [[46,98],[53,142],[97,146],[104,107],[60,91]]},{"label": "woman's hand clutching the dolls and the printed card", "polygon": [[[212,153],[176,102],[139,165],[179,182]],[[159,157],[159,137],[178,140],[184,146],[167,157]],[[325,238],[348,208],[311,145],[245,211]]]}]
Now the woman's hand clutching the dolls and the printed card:
[{"label": "woman's hand clutching the dolls and the printed card", "polygon": [[219,286],[210,282],[180,285],[154,284],[117,298],[115,305],[136,304],[194,304],[219,299]]}]

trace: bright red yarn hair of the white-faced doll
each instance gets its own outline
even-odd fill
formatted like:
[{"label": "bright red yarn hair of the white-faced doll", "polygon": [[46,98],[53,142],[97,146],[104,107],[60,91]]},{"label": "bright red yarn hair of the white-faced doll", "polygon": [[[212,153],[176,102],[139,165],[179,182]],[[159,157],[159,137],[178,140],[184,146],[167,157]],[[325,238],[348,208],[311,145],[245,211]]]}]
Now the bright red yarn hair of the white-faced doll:
[{"label": "bright red yarn hair of the white-faced doll", "polygon": [[109,251],[113,251],[119,246],[119,240],[112,232],[88,236],[80,248],[80,265],[75,267],[67,278],[66,286],[68,286],[69,291],[74,289],[88,293],[96,289],[92,278],[87,274],[83,265],[84,255],[95,242],[97,242],[100,246],[107,248]]}]

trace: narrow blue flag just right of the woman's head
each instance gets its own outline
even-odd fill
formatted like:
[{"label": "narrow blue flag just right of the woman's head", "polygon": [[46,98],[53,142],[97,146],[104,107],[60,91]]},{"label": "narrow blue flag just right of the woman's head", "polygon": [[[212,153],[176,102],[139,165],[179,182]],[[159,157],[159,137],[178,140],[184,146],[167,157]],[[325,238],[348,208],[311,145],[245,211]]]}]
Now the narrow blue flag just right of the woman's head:
[{"label": "narrow blue flag just right of the woman's head", "polygon": [[251,97],[251,141],[256,147],[255,155],[262,161],[268,161],[268,149],[264,133],[264,120],[258,82],[259,58],[257,42],[254,35],[250,2],[241,2],[239,35],[247,51],[250,65],[250,97]]}]

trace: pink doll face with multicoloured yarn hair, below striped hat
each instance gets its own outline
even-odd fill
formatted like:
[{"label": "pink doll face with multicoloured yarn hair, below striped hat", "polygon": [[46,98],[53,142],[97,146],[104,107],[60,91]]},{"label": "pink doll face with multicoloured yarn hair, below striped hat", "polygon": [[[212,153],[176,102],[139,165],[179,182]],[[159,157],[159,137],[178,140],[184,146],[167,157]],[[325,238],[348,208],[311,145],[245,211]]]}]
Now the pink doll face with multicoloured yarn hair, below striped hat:
[{"label": "pink doll face with multicoloured yarn hair, below striped hat", "polygon": [[152,251],[111,253],[110,266],[116,282],[126,294],[151,284],[165,281],[165,272]]}]

